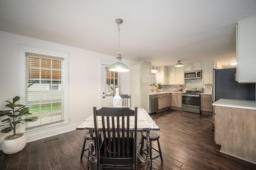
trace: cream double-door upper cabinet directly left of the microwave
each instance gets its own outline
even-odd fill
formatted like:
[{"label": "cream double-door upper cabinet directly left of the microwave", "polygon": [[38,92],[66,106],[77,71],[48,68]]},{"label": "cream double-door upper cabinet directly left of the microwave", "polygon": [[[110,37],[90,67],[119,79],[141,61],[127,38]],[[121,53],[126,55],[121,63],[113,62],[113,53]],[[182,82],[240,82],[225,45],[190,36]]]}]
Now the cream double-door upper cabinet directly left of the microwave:
[{"label": "cream double-door upper cabinet directly left of the microwave", "polygon": [[168,84],[184,84],[184,67],[168,67]]}]

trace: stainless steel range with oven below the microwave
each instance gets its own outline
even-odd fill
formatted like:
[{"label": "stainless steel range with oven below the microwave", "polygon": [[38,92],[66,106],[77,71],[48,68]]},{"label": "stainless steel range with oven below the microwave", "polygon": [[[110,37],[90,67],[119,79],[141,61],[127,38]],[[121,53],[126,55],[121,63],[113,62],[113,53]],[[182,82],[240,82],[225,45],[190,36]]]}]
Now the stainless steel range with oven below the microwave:
[{"label": "stainless steel range with oven below the microwave", "polygon": [[186,88],[186,93],[182,93],[182,111],[200,113],[200,93],[203,88]]}]

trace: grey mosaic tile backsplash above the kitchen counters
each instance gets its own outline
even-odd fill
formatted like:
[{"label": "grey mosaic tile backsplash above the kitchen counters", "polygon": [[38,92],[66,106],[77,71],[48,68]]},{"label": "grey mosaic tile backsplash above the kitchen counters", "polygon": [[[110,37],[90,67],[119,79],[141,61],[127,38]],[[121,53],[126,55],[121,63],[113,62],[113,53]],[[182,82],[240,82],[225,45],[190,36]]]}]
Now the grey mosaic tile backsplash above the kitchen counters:
[{"label": "grey mosaic tile backsplash above the kitchen counters", "polygon": [[[163,85],[163,88],[161,89],[162,92],[168,92],[168,91],[173,91],[175,88],[179,89],[180,85]],[[202,79],[186,79],[185,80],[185,85],[183,86],[182,91],[186,91],[186,88],[204,88],[204,93],[212,93],[212,84],[203,84]],[[152,87],[150,86],[150,92],[157,92],[157,87]]]}]

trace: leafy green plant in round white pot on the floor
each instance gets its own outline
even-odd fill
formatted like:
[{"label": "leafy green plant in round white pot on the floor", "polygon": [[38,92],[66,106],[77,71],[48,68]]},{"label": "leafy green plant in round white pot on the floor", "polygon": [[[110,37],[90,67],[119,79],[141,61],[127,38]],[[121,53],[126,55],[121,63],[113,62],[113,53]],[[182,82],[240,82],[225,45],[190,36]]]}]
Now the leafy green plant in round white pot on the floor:
[{"label": "leafy green plant in round white pot on the floor", "polygon": [[15,104],[20,100],[20,97],[16,96],[12,99],[12,102],[8,102],[5,106],[10,108],[10,110],[0,111],[0,117],[6,116],[7,118],[2,120],[1,122],[5,122],[6,124],[2,126],[8,126],[1,130],[2,133],[8,133],[13,130],[13,134],[6,136],[4,138],[4,142],[2,143],[2,150],[6,154],[14,154],[22,150],[27,142],[26,136],[24,133],[16,133],[16,125],[24,124],[23,122],[32,121],[32,119],[22,119],[23,115],[31,115],[28,113],[28,108],[25,105]]}]

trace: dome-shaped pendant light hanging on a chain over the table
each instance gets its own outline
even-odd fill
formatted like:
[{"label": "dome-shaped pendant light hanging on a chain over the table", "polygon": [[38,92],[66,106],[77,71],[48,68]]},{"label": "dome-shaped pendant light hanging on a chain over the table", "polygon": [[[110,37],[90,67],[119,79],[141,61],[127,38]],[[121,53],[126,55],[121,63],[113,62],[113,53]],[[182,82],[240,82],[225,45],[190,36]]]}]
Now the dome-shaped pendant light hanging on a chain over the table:
[{"label": "dome-shaped pendant light hanging on a chain over the table", "polygon": [[116,24],[118,24],[118,55],[116,57],[116,63],[110,65],[110,71],[117,71],[117,72],[125,72],[129,71],[129,68],[126,64],[122,63],[122,57],[120,54],[120,24],[122,24],[123,20],[116,19]]}]

